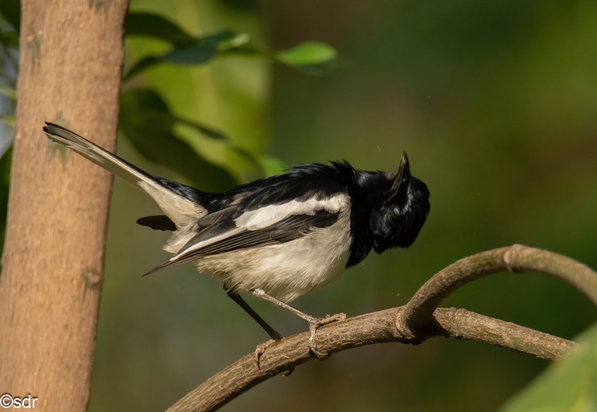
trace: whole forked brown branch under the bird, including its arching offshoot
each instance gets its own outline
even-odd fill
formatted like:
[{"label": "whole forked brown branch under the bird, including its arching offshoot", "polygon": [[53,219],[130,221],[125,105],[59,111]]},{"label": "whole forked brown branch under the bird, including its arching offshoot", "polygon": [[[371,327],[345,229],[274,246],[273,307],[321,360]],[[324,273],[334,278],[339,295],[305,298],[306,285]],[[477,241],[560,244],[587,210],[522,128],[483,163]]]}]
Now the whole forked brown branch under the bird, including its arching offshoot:
[{"label": "whole forked brown branch under the bird, including its arching offshoot", "polygon": [[[418,344],[433,336],[476,340],[553,360],[564,355],[570,340],[504,322],[464,309],[437,306],[458,287],[500,271],[535,271],[576,286],[597,304],[597,274],[573,259],[547,250],[514,245],[460,259],[427,281],[410,302],[328,324],[318,329],[317,346],[324,353],[383,342]],[[260,382],[313,357],[309,333],[285,337],[267,347],[257,365],[254,353],[236,361],[181,398],[168,412],[213,411]]]}]

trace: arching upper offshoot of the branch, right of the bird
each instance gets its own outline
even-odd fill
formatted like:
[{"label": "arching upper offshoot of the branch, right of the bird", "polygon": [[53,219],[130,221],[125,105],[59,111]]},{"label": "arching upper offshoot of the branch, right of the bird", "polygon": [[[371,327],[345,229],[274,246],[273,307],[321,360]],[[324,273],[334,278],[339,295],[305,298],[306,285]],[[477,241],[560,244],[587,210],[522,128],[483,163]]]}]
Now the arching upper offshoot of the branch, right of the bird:
[{"label": "arching upper offshoot of the branch, right of the bird", "polygon": [[488,250],[454,262],[430,278],[407,303],[402,325],[409,337],[424,336],[433,311],[458,288],[478,278],[498,272],[532,271],[547,274],[571,284],[597,305],[597,272],[566,256],[548,250],[515,244]]}]

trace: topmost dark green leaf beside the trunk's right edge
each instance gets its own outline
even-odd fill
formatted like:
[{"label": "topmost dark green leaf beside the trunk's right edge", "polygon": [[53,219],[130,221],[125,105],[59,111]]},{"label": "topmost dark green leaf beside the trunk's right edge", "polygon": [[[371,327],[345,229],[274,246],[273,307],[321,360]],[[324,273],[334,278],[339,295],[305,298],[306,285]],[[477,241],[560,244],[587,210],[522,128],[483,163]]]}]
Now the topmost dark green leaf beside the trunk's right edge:
[{"label": "topmost dark green leaf beside the trunk's right edge", "polygon": [[195,40],[170,20],[150,13],[129,13],[125,34],[152,37],[172,44],[189,43]]}]

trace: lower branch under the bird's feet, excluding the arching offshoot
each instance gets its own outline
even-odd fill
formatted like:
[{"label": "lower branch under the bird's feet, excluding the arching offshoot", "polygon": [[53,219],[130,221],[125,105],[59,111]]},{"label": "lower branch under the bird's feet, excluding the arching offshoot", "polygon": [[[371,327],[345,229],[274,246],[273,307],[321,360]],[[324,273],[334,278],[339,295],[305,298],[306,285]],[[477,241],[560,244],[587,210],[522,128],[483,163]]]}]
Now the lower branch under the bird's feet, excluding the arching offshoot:
[{"label": "lower branch under the bird's feet, excluding the arching offshoot", "polygon": [[[411,340],[408,333],[399,329],[398,320],[404,308],[386,309],[321,327],[317,331],[317,347],[332,354],[373,343],[419,343],[420,339]],[[433,316],[437,328],[435,334],[426,337],[476,340],[548,360],[561,357],[575,344],[464,309],[436,309]],[[269,377],[314,359],[307,349],[308,340],[309,332],[303,332],[268,346],[261,356],[260,367],[257,367],[253,352],[242,357],[189,392],[167,412],[216,410]]]}]

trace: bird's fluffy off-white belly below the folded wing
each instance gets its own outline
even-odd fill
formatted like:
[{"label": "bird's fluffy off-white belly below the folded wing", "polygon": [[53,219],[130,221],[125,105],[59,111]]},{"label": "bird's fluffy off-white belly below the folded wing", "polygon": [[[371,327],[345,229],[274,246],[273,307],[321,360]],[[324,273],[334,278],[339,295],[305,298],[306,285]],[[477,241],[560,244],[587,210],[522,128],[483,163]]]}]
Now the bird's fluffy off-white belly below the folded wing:
[{"label": "bird's fluffy off-white belly below the folded wing", "polygon": [[350,211],[338,221],[286,243],[206,256],[201,272],[221,277],[232,290],[263,289],[290,302],[336,280],[349,257]]}]

